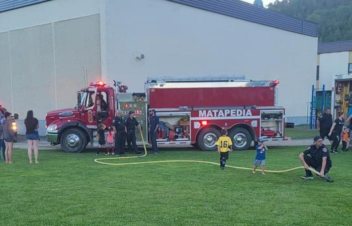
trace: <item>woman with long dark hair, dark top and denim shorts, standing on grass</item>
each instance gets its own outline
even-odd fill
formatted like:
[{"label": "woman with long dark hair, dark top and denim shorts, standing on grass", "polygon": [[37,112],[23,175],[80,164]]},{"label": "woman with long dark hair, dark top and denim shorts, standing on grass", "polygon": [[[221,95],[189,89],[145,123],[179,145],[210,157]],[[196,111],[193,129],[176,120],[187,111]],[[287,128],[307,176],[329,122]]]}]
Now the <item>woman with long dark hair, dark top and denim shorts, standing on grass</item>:
[{"label": "woman with long dark hair, dark top and denim shorts, standing on grass", "polygon": [[34,150],[35,163],[38,162],[38,142],[39,142],[39,123],[33,117],[33,110],[27,111],[27,118],[25,119],[26,125],[26,138],[28,143],[28,158],[29,163],[32,163],[32,149]]}]

